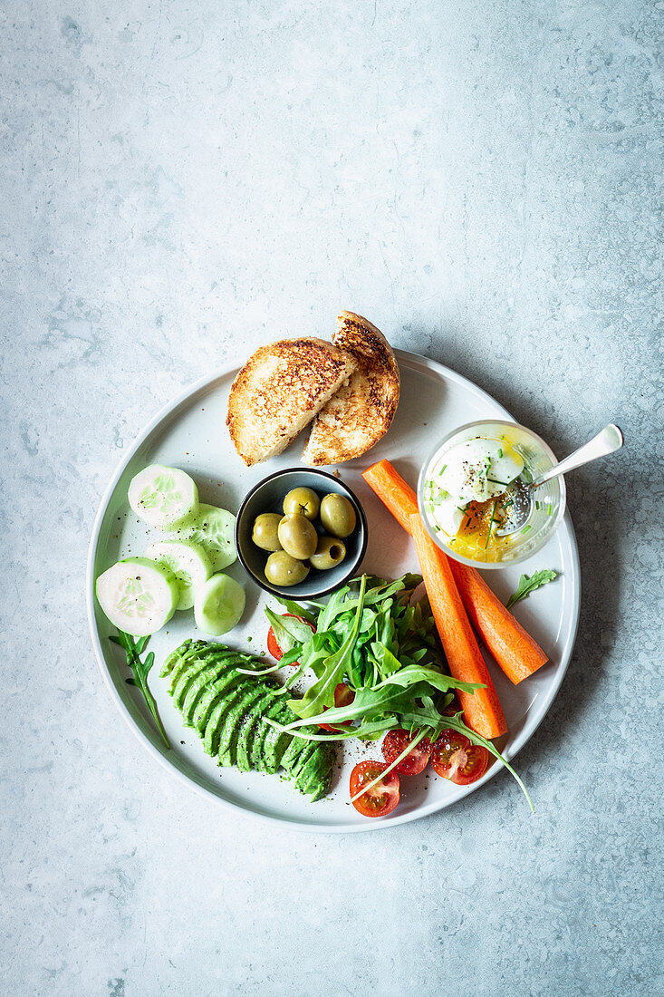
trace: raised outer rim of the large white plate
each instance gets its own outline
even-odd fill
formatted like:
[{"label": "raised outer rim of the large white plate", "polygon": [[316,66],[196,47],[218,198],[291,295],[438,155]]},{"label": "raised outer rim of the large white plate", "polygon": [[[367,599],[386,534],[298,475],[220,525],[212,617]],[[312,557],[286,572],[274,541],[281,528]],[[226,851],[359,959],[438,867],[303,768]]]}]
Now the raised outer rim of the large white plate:
[{"label": "raised outer rim of the large white plate", "polygon": [[[476,396],[482,397],[487,402],[491,403],[492,406],[498,407],[505,419],[513,422],[513,417],[501,405],[497,399],[495,399],[488,391],[481,388],[479,385],[471,381],[470,378],[465,377],[463,374],[459,374],[457,371],[452,370],[445,364],[440,363],[438,360],[432,360],[430,357],[423,356],[419,353],[412,353],[409,350],[395,349],[395,355],[399,360],[403,360],[405,363],[409,364],[411,367],[417,366],[418,364],[425,369],[434,372],[439,377],[444,380],[450,380],[456,382],[458,385],[471,389]],[[320,825],[313,824],[305,821],[289,821],[288,819],[275,817],[270,814],[262,813],[260,811],[241,806],[237,803],[233,803],[231,800],[224,799],[222,796],[218,796],[211,790],[207,789],[205,786],[200,785],[196,780],[191,779],[185,773],[181,772],[175,765],[173,765],[167,758],[166,754],[163,753],[159,748],[156,747],[150,740],[147,734],[145,734],[139,725],[135,722],[134,718],[130,714],[129,710],[126,708],[120,693],[116,687],[115,682],[111,678],[111,673],[109,667],[106,663],[106,657],[104,655],[104,650],[102,648],[102,643],[97,630],[97,621],[95,618],[95,578],[94,578],[94,565],[95,558],[97,554],[97,548],[100,539],[100,533],[102,529],[102,523],[104,516],[106,515],[109,503],[113,494],[118,487],[118,483],[125,473],[128,465],[130,464],[132,458],[137,453],[137,451],[143,446],[146,440],[150,437],[160,424],[166,419],[166,417],[181,406],[187,399],[193,397],[197,392],[206,388],[214,381],[220,380],[223,377],[227,377],[234,370],[238,369],[235,363],[224,364],[222,367],[217,368],[211,374],[206,374],[204,377],[199,378],[197,381],[192,382],[181,392],[169,402],[166,402],[156,415],[144,426],[144,428],[139,432],[133,444],[128,451],[124,452],[118,461],[113,474],[109,480],[109,483],[104,490],[102,498],[97,509],[97,514],[93,523],[92,534],[90,537],[90,543],[88,546],[88,559],[86,568],[86,602],[88,610],[88,624],[90,627],[90,634],[92,637],[93,648],[95,651],[95,657],[97,659],[97,664],[102,673],[104,682],[111,693],[112,699],[114,700],[118,710],[123,716],[126,724],[129,726],[130,730],[133,731],[135,736],[141,741],[143,746],[150,752],[150,754],[155,758],[163,768],[166,769],[172,776],[174,776],[181,783],[186,785],[190,790],[204,796],[206,799],[212,799],[217,804],[222,807],[226,807],[232,810],[235,814],[244,815],[245,817],[252,817],[259,821],[267,822],[270,825],[278,825],[282,828],[289,828],[293,831],[301,831],[303,833],[320,833],[320,834],[348,834],[348,833],[360,833],[364,831],[389,831],[392,828],[399,827],[404,824],[410,824],[412,821],[420,820],[421,818],[431,817],[433,814],[438,814],[442,810],[447,810],[448,807],[459,803],[466,797],[470,796],[472,793],[477,792],[481,789],[485,783],[493,779],[498,772],[504,769],[504,766],[498,760],[494,765],[488,769],[487,773],[479,779],[476,783],[470,786],[459,788],[460,792],[457,793],[451,800],[448,801],[438,801],[432,802],[430,805],[421,805],[417,811],[403,814],[399,817],[391,818],[389,822],[384,823],[367,821],[365,824],[338,824],[338,825]],[[578,557],[578,546],[576,543],[576,536],[574,533],[574,527],[572,525],[571,516],[569,510],[565,510],[558,529],[564,528],[567,533],[567,540],[569,542],[570,555],[571,555],[571,600],[572,600],[572,618],[571,625],[568,629],[567,635],[565,637],[563,646],[560,652],[560,664],[558,667],[558,672],[555,676],[555,680],[552,682],[551,686],[547,689],[545,700],[542,705],[541,715],[534,727],[528,731],[526,737],[523,737],[522,733],[518,735],[514,741],[514,744],[503,752],[503,756],[507,761],[513,759],[518,752],[525,747],[530,738],[535,734],[540,724],[548,714],[555,697],[558,694],[562,681],[567,673],[569,667],[569,662],[574,650],[574,644],[576,642],[576,635],[578,632],[578,623],[580,615],[580,604],[581,604],[581,578],[580,578],[580,562]]]}]

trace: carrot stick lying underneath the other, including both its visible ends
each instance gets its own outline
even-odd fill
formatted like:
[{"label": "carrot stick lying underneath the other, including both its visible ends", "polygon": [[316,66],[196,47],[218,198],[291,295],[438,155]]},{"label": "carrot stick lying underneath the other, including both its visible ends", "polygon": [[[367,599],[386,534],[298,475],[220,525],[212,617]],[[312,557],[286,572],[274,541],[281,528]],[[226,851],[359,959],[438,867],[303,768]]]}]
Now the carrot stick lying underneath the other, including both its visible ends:
[{"label": "carrot stick lying underneath the other, including both its visible ends", "polygon": [[[409,517],[417,511],[417,496],[390,462],[374,464],[362,477],[404,529],[411,533]],[[499,667],[514,684],[532,675],[548,660],[542,649],[502,605],[479,571],[452,558],[450,560],[471,622]]]}]

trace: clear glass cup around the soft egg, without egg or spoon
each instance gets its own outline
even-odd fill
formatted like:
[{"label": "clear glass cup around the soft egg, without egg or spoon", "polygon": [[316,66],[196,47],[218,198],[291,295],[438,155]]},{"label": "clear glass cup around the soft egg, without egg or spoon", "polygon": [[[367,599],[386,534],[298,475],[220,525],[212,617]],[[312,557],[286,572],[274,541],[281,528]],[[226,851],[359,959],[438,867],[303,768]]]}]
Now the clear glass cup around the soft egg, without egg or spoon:
[{"label": "clear glass cup around the soft egg, without egg or spoon", "polygon": [[516,423],[508,423],[499,419],[486,419],[477,423],[469,423],[456,429],[445,437],[429,455],[422,467],[418,482],[418,503],[422,519],[432,539],[447,554],[463,564],[473,567],[501,567],[503,564],[518,564],[519,561],[531,557],[540,550],[555,532],[565,511],[564,478],[552,478],[540,485],[532,493],[530,513],[524,525],[515,533],[502,537],[498,550],[470,558],[455,550],[454,537],[437,526],[430,512],[426,498],[425,485],[430,478],[430,469],[439,464],[443,455],[460,443],[475,440],[478,437],[489,440],[506,440],[523,459],[522,478],[534,481],[545,471],[557,464],[555,455],[544,441],[532,430]]}]

